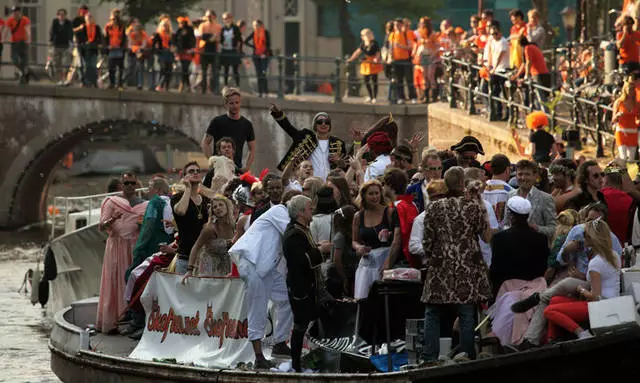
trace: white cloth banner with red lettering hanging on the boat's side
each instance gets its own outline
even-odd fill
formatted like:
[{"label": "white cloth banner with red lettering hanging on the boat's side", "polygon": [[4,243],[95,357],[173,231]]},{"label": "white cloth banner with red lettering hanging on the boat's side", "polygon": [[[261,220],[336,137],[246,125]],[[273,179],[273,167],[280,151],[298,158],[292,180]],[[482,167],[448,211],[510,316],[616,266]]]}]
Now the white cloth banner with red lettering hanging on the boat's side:
[{"label": "white cloth banner with red lettering hanging on the boat's side", "polygon": [[[158,271],[151,276],[140,297],[146,313],[144,334],[129,357],[175,358],[209,368],[253,361],[244,283],[237,278],[191,277],[183,285],[182,277]],[[267,335],[271,323],[267,322]]]}]

